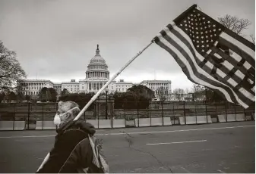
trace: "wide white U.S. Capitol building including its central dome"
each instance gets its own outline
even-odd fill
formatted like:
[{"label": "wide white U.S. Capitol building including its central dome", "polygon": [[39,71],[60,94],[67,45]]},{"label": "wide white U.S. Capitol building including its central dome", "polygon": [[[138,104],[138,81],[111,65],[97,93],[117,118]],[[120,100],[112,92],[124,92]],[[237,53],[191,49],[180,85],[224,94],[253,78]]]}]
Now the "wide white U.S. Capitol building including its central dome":
[{"label": "wide white U.S. Capitol building including its central dome", "polygon": [[[67,89],[70,93],[80,93],[80,92],[97,92],[103,87],[109,80],[109,70],[108,65],[103,57],[100,55],[100,48],[97,45],[96,54],[90,59],[90,63],[87,66],[87,71],[85,72],[85,79],[80,79],[76,82],[71,79],[70,82],[52,82],[49,79],[25,79],[21,84],[21,92],[24,95],[38,95],[40,89],[43,87],[54,88],[58,94],[63,89]],[[170,80],[143,80],[142,82],[135,84],[133,82],[125,82],[124,80],[119,80],[116,82],[112,81],[109,86],[109,93],[114,92],[126,92],[127,89],[131,88],[132,85],[146,85],[149,89],[155,92],[156,98],[158,96],[158,89],[170,94],[172,91]]]}]

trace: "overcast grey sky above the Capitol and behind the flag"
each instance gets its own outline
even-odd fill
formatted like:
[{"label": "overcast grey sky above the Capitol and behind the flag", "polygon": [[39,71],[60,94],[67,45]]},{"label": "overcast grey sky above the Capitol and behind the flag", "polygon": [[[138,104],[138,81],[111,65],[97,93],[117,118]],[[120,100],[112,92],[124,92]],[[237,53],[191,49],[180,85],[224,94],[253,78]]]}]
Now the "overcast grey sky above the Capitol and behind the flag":
[{"label": "overcast grey sky above the Capitol and behind the flag", "polygon": [[[0,40],[17,52],[28,79],[85,79],[96,44],[112,76],[193,4],[213,19],[225,14],[248,18],[252,24],[244,34],[255,33],[254,0],[0,0]],[[192,86],[158,45],[151,45],[117,79],[169,79],[172,89]]]}]

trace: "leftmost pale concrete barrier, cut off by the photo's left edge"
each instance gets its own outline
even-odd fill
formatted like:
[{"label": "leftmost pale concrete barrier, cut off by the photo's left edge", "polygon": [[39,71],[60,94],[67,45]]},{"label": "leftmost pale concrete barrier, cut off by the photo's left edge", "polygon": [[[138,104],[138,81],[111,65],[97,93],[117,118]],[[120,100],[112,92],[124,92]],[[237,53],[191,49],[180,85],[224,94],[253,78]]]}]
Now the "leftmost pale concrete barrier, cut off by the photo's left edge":
[{"label": "leftmost pale concrete barrier, cut off by the photo's left edge", "polygon": [[0,130],[24,130],[25,121],[0,121]]}]

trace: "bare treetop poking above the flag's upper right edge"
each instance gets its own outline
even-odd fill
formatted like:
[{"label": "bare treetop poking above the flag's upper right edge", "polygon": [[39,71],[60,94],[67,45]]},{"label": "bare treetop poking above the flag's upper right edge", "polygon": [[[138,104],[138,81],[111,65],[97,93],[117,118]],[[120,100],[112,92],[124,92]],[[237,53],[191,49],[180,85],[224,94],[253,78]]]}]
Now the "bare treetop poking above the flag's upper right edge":
[{"label": "bare treetop poking above the flag's upper right edge", "polygon": [[226,26],[229,30],[239,34],[242,36],[242,32],[246,29],[249,25],[251,25],[251,21],[248,19],[239,19],[239,17],[231,16],[226,14],[224,17],[218,17],[218,20],[223,26]]}]

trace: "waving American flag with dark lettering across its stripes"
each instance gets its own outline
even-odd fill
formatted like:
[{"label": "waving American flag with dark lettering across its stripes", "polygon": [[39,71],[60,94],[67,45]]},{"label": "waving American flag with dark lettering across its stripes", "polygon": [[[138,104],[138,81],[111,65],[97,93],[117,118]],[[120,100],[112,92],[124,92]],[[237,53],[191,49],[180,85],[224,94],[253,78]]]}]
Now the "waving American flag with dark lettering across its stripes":
[{"label": "waving American flag with dark lettering across its stripes", "polygon": [[192,5],[154,39],[188,79],[249,107],[255,101],[255,48]]}]

